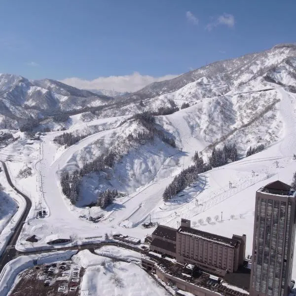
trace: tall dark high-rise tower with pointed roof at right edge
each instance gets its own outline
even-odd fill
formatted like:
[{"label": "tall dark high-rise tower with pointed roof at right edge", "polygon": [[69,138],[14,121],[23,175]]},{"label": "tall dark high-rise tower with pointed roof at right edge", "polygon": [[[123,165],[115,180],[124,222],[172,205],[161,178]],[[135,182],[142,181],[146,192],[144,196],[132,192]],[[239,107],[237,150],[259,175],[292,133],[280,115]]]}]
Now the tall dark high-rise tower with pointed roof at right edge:
[{"label": "tall dark high-rise tower with pointed roof at right edge", "polygon": [[250,296],[287,296],[295,242],[296,192],[276,181],[256,192]]}]

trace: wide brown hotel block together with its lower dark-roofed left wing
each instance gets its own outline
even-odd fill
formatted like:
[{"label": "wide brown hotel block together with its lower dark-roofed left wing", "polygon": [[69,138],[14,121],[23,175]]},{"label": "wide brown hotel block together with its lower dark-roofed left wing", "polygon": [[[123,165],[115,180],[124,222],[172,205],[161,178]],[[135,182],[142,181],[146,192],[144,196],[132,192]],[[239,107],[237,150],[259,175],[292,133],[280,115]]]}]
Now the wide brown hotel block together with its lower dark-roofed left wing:
[{"label": "wide brown hotel block together with its lower dark-roofed left wing", "polygon": [[176,258],[179,263],[191,263],[224,276],[243,264],[246,235],[227,238],[191,228],[190,221],[182,219],[178,229],[158,225],[152,233],[150,249]]}]

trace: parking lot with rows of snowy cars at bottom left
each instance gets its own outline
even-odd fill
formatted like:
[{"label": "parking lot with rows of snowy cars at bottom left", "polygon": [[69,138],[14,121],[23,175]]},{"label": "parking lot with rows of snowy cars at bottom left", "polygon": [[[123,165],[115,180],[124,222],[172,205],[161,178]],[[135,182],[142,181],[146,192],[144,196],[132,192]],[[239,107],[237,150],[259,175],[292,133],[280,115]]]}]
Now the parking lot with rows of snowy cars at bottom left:
[{"label": "parking lot with rows of snowy cars at bottom left", "polygon": [[72,261],[36,265],[20,274],[12,296],[78,296],[84,269]]}]

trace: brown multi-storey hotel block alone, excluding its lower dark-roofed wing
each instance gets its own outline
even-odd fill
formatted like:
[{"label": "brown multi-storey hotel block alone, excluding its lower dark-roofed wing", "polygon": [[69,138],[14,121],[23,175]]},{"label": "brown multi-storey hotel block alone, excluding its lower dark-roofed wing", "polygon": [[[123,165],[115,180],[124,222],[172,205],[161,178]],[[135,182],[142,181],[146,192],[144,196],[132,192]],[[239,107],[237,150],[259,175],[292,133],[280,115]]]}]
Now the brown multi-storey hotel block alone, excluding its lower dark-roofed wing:
[{"label": "brown multi-storey hotel block alone, excluding its lower dark-roofed wing", "polygon": [[181,220],[177,230],[176,259],[180,263],[196,264],[218,276],[235,272],[243,265],[246,235],[232,238],[200,231],[190,227],[190,221]]}]

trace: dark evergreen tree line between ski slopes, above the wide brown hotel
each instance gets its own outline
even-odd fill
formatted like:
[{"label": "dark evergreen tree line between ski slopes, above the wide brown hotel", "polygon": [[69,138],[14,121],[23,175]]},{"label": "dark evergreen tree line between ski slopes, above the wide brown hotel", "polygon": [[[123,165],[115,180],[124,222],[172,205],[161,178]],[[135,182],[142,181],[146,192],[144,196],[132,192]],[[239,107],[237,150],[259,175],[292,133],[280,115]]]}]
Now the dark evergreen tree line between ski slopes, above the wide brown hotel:
[{"label": "dark evergreen tree line between ski slopes, above the wide brown hotel", "polygon": [[198,174],[211,170],[213,167],[218,167],[227,163],[228,160],[235,161],[238,159],[236,144],[224,145],[223,149],[214,148],[209,162],[204,163],[202,156],[198,155],[196,151],[193,157],[194,164],[184,169],[178,176],[174,178],[171,184],[169,184],[163,194],[163,200],[167,201],[172,196],[178,194],[184,190],[187,186],[190,186],[198,179]]}]

